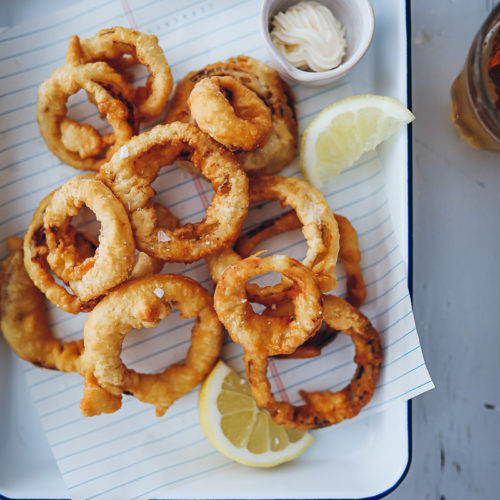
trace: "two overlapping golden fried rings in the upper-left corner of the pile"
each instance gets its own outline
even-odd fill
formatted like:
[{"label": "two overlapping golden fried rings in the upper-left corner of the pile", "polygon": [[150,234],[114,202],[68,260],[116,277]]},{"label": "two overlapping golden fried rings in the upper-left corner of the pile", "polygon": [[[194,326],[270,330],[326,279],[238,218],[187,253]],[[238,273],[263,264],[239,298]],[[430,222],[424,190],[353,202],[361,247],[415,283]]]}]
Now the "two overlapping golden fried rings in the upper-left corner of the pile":
[{"label": "two overlapping golden fried rings in the upper-left corner of the pile", "polygon": [[[154,35],[131,28],[101,30],[93,38],[71,37],[66,65],[38,89],[37,121],[47,147],[64,163],[99,170],[139,131],[140,121],[157,117],[172,90],[170,66]],[[125,71],[143,64],[150,72],[144,87],[128,83]],[[68,98],[87,93],[113,132],[101,135],[87,123],[67,117]]]}]

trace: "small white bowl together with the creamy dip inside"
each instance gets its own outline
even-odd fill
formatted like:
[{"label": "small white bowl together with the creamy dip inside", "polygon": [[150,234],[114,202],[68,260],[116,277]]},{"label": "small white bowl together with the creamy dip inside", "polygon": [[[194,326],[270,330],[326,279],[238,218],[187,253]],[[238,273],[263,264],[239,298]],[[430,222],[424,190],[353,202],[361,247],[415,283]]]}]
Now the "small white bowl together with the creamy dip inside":
[{"label": "small white bowl together with the creamy dip inside", "polygon": [[366,53],[374,28],[370,0],[262,0],[260,31],[271,65],[303,85],[344,76]]}]

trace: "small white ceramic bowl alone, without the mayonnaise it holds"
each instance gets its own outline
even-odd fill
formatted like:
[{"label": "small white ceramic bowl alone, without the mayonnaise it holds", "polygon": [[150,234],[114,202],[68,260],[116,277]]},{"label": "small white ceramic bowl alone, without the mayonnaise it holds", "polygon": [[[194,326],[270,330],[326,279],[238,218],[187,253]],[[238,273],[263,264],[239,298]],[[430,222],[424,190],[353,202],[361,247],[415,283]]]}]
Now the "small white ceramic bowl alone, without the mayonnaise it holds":
[{"label": "small white ceramic bowl alone, without the mayonnaise it holds", "polygon": [[260,11],[260,30],[273,66],[285,78],[310,86],[328,85],[344,76],[368,50],[375,29],[369,0],[318,0],[326,5],[345,28],[347,49],[342,63],[328,71],[304,71],[292,66],[278,52],[269,34],[273,17],[299,0],[264,0]]}]

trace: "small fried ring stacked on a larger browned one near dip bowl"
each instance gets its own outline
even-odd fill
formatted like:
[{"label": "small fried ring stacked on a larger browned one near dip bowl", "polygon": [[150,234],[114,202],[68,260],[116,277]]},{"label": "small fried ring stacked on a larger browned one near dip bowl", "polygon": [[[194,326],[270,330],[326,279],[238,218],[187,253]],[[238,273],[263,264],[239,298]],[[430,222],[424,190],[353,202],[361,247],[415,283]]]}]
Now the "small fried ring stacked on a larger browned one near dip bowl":
[{"label": "small fried ring stacked on a larger browned one near dip bowl", "polygon": [[[214,77],[217,79],[212,80]],[[214,85],[205,85],[207,78]],[[207,92],[207,87],[211,105],[205,104],[203,109],[199,94]],[[250,113],[249,102],[258,103],[252,104]],[[267,133],[269,114],[271,131]],[[279,172],[293,160],[297,150],[297,118],[290,87],[274,68],[247,56],[209,64],[185,76],[177,83],[165,121],[198,123],[235,152],[248,175]],[[238,144],[232,137],[232,129],[241,128],[242,122],[246,122],[243,128],[250,137],[245,137],[245,141],[240,137],[242,142]],[[248,139],[252,139],[249,142],[254,144],[253,149],[247,149]]]}]

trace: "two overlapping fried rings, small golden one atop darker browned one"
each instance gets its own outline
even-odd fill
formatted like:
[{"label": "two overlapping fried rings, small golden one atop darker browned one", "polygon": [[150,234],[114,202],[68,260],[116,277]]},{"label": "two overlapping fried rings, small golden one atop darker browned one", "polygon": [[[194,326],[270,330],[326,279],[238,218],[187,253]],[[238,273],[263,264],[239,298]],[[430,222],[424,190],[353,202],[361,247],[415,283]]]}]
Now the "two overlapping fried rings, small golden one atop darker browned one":
[{"label": "two overlapping fried rings, small golden one atop darker browned one", "polygon": [[[246,300],[245,285],[249,278],[269,271],[293,277],[293,310],[256,317]],[[304,293],[312,302],[309,307]],[[229,266],[215,289],[215,310],[232,340],[245,350],[243,360],[257,405],[268,410],[277,424],[297,429],[333,425],[355,417],[373,396],[382,363],[380,335],[354,306],[340,297],[322,295],[316,276],[300,262],[283,255],[257,255]],[[358,368],[351,382],[334,393],[299,391],[305,401],[302,406],[277,401],[267,379],[268,358],[300,349],[314,338],[321,320],[349,335],[355,345]]]}]

